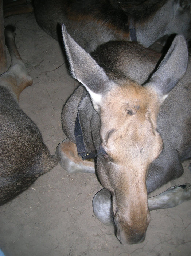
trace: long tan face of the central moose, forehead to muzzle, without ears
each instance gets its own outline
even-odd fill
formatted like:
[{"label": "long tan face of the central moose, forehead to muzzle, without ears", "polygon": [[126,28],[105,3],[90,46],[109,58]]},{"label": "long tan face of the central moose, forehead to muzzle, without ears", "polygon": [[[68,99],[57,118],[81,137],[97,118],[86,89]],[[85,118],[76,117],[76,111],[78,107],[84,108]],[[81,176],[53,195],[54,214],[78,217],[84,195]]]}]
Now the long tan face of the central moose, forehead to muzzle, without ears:
[{"label": "long tan face of the central moose, forehead to muzzle, without ears", "polygon": [[101,106],[101,146],[108,159],[98,165],[98,176],[112,192],[122,242],[143,240],[150,221],[146,176],[163,145],[157,132],[159,108],[154,89],[131,81],[110,90]]}]

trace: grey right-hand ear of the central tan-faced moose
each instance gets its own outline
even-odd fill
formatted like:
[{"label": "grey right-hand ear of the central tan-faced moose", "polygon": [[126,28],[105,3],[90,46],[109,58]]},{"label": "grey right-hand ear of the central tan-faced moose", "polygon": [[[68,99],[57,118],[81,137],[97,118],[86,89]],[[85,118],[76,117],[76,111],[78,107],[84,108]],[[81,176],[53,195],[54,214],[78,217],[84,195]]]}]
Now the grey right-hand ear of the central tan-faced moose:
[{"label": "grey right-hand ear of the central tan-faced moose", "polygon": [[161,103],[184,76],[187,62],[188,48],[186,41],[182,35],[176,35],[167,54],[147,84],[147,86],[155,88],[159,97],[161,97]]}]

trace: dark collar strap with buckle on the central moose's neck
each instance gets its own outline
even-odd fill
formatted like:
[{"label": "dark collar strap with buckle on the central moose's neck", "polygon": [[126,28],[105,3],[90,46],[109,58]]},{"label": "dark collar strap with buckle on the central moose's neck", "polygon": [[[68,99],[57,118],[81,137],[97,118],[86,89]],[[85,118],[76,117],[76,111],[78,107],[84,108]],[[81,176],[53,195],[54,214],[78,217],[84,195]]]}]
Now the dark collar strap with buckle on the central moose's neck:
[{"label": "dark collar strap with buckle on the central moose's neck", "polygon": [[77,147],[78,155],[82,157],[82,160],[95,158],[95,154],[89,153],[86,151],[84,140],[83,140],[83,133],[82,133],[82,127],[79,121],[79,110],[78,114],[75,120],[75,127],[74,127],[74,135],[75,135],[75,144]]}]

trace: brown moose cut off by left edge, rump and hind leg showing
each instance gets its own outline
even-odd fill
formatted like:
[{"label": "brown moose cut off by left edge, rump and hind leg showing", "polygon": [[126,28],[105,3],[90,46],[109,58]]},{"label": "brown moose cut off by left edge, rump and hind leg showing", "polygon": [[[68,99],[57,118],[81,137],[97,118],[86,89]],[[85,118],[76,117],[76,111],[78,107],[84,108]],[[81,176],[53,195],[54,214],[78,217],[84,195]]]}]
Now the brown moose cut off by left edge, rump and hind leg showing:
[{"label": "brown moose cut off by left edge, rump and hind leg showing", "polygon": [[39,129],[18,104],[20,93],[32,84],[32,78],[17,51],[14,31],[13,25],[5,28],[11,65],[0,75],[0,205],[58,163],[58,157],[50,155]]}]

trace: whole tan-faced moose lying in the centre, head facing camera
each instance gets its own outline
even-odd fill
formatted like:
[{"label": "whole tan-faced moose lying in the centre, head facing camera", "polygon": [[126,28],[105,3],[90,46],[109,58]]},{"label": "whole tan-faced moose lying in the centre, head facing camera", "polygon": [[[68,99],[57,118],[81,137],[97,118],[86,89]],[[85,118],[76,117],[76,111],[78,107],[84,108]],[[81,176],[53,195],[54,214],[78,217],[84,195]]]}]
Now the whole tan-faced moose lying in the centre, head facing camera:
[{"label": "whole tan-faced moose lying in the centre, head facing camera", "polygon": [[[122,41],[100,45],[91,57],[65,27],[63,39],[71,73],[81,84],[63,107],[68,139],[56,149],[60,163],[68,172],[96,170],[105,188],[93,199],[95,215],[105,224],[114,222],[122,243],[142,242],[149,210],[191,199],[191,184],[147,198],[147,193],[181,176],[181,161],[191,157],[186,41],[177,35],[164,58]],[[95,154],[95,169],[78,153],[83,159]]]}]

